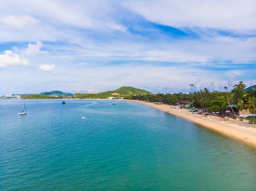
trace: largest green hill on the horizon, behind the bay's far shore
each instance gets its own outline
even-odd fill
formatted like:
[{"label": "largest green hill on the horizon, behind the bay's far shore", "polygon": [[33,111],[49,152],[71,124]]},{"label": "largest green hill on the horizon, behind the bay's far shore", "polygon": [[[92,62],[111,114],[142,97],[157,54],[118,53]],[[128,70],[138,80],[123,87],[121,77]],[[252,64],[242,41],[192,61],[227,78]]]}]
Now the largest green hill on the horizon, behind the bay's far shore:
[{"label": "largest green hill on the horizon, behind the bay's far shore", "polygon": [[105,91],[99,94],[75,94],[76,98],[84,99],[84,98],[91,98],[91,99],[105,99],[108,97],[124,97],[130,98],[131,95],[147,95],[152,94],[149,91],[130,87],[130,86],[122,86],[114,91]]}]

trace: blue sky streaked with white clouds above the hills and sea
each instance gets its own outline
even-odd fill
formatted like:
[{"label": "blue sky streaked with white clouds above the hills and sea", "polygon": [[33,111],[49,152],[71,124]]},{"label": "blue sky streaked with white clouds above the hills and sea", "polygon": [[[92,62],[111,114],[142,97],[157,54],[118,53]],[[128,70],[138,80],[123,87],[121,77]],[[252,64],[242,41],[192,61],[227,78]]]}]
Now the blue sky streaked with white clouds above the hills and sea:
[{"label": "blue sky streaked with white clouds above the hills and sea", "polygon": [[255,0],[0,1],[0,95],[256,84]]}]

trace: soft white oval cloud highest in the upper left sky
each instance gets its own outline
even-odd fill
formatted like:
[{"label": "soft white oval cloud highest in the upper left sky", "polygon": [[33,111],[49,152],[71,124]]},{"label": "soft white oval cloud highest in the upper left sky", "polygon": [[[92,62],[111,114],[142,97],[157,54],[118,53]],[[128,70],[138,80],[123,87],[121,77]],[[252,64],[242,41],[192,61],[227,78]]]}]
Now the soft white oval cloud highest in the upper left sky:
[{"label": "soft white oval cloud highest in the upper left sky", "polygon": [[14,28],[22,29],[25,26],[33,25],[38,23],[38,20],[33,17],[24,15],[24,16],[8,16],[3,19],[3,23],[7,26],[11,26]]}]

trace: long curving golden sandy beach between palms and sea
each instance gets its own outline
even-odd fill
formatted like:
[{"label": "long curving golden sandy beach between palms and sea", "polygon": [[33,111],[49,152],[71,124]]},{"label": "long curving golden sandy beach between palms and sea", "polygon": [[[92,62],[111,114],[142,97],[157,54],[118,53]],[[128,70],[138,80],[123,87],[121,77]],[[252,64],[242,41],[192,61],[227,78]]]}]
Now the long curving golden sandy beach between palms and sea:
[{"label": "long curving golden sandy beach between palms and sea", "polygon": [[230,119],[227,121],[221,120],[220,117],[217,116],[209,116],[208,118],[204,115],[192,114],[192,112],[189,112],[188,109],[175,109],[171,108],[170,105],[166,104],[156,105],[154,103],[148,103],[138,100],[128,101],[148,105],[150,107],[154,107],[166,112],[169,111],[170,114],[180,116],[183,119],[189,120],[199,125],[203,125],[207,128],[211,128],[212,130],[218,131],[222,134],[225,134],[233,138],[237,138],[245,143],[248,143],[256,147],[256,125],[249,124],[248,121],[240,121],[234,119]]}]

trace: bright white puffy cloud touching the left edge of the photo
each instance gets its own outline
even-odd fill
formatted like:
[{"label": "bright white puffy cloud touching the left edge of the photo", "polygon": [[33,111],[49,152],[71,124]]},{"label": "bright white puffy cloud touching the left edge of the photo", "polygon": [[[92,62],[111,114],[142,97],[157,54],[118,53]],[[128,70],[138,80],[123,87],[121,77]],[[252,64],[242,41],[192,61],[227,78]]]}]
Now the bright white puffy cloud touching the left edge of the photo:
[{"label": "bright white puffy cloud touching the left edge of the photo", "polygon": [[0,54],[0,67],[23,66],[28,64],[28,59],[21,58],[18,54],[14,54],[10,50],[4,51],[4,54]]}]

